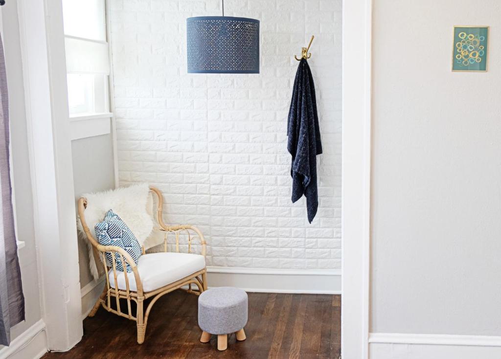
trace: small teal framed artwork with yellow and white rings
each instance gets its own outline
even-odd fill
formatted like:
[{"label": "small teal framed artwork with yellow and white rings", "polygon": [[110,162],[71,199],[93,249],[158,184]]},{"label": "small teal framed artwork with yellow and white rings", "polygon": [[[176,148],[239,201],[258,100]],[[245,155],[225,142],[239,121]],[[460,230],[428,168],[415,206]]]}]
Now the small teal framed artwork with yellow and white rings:
[{"label": "small teal framed artwork with yellow and white rings", "polygon": [[487,71],[488,26],[454,26],[452,71]]}]

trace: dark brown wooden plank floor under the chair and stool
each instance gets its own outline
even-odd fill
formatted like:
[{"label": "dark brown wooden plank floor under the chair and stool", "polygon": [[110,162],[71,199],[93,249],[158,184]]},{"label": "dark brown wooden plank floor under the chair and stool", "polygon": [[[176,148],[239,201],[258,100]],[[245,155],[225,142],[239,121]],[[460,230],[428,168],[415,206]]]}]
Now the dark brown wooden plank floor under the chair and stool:
[{"label": "dark brown wooden plank floor under the chair and stool", "polygon": [[341,296],[248,293],[247,339],[228,336],[228,349],[199,341],[197,296],[176,290],[153,306],[143,344],[134,321],[100,308],[84,320],[82,341],[52,358],[335,358],[341,350]]}]

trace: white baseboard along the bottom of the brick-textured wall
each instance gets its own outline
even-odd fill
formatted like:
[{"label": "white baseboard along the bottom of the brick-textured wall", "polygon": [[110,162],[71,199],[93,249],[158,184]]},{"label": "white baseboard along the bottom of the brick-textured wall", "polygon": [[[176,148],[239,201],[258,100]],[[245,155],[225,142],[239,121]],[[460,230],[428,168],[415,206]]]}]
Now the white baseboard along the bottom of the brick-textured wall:
[{"label": "white baseboard along the bottom of the brick-textured wall", "polygon": [[234,286],[248,292],[341,294],[341,270],[207,266],[208,287]]}]

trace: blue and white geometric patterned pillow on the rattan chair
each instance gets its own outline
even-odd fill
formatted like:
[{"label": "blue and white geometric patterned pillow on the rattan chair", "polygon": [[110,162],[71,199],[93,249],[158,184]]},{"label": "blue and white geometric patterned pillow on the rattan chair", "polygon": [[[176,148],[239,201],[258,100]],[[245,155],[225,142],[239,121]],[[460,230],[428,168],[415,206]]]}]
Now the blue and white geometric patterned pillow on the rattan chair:
[{"label": "blue and white geometric patterned pillow on the rattan chair", "polygon": [[[109,210],[102,222],[97,223],[94,227],[96,231],[96,237],[99,244],[102,245],[115,245],[120,248],[125,249],[127,253],[130,254],[134,263],[137,264],[139,257],[141,256],[141,246],[136,239],[136,236],[127,227],[124,221],[113,212]],[[115,263],[117,270],[124,271],[122,260],[117,252],[115,253]],[[106,259],[111,264],[113,263],[113,257],[111,252],[106,252]],[[125,262],[127,266],[127,272],[132,272],[132,268],[129,263]]]}]

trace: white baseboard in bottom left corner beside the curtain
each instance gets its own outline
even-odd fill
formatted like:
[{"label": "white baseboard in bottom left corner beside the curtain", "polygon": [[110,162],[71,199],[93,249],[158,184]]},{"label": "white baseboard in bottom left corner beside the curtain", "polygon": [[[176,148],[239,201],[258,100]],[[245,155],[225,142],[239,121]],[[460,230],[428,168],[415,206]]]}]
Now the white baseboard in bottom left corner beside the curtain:
[{"label": "white baseboard in bottom left corner beside the curtain", "polygon": [[47,351],[45,322],[40,319],[0,349],[0,359],[39,359]]}]

